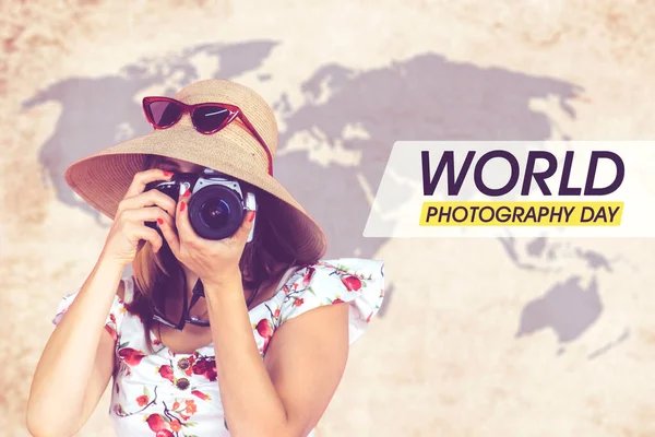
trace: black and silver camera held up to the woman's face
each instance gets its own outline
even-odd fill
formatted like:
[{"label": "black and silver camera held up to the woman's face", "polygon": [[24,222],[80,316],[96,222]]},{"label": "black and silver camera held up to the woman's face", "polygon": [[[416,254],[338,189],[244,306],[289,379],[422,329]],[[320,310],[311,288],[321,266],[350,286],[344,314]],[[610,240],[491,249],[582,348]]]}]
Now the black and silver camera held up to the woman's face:
[{"label": "black and silver camera held up to the woman's face", "polygon": [[[176,173],[170,180],[147,184],[145,191],[157,189],[177,202],[182,185],[191,191],[188,204],[189,222],[201,238],[228,238],[241,226],[247,211],[257,211],[253,192],[247,191],[235,178],[211,168],[205,168],[201,174]],[[164,238],[156,222],[145,224],[156,229]],[[253,233],[254,222],[248,235],[248,243],[252,240]]]}]

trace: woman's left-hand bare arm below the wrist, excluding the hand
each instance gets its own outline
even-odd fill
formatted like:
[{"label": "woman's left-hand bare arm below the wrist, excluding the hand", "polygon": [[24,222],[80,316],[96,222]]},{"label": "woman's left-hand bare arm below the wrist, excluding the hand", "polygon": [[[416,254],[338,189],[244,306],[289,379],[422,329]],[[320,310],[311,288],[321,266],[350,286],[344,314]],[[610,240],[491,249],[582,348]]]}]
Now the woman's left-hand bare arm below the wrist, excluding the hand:
[{"label": "woman's left-hand bare arm below the wrist, excluding the hand", "polygon": [[123,269],[100,257],[50,335],[27,403],[32,435],[73,435],[98,404],[114,370],[115,341],[105,320],[115,295],[122,297]]}]

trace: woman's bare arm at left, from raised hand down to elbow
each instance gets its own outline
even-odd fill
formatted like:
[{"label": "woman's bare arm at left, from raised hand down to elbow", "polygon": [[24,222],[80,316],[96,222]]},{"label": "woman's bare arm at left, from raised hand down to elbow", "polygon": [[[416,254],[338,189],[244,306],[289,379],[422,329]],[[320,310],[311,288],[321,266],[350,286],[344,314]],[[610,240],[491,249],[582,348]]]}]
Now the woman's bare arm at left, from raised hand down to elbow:
[{"label": "woman's bare arm at left, from raised hand down to elbow", "polygon": [[118,204],[103,255],[50,335],[36,368],[26,417],[33,435],[70,436],[98,404],[114,370],[116,343],[104,326],[115,295],[122,297],[118,288],[122,272],[134,260],[141,243],[148,241],[155,252],[163,245],[162,237],[145,222],[157,220],[170,226],[169,212],[175,213],[170,197],[144,190],[148,182],[171,176],[158,168],[136,173]]}]

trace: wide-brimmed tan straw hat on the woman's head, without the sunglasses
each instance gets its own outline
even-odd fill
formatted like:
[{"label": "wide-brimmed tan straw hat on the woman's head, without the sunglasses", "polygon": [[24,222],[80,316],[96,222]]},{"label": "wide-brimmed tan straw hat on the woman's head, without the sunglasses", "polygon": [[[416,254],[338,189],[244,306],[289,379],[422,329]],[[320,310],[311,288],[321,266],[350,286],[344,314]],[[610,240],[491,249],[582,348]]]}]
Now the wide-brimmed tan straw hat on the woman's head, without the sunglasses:
[{"label": "wide-brimmed tan straw hat on the woman's head, without the sunglasses", "polygon": [[[186,104],[203,102],[238,106],[266,143],[273,160],[277,150],[277,123],[266,102],[241,84],[225,80],[194,82],[175,97]],[[71,164],[67,184],[88,204],[114,220],[134,174],[144,169],[147,155],[188,161],[241,179],[271,194],[266,202],[273,225],[298,250],[298,261],[320,259],[326,237],[317,222],[271,175],[262,144],[238,119],[213,134],[198,132],[189,114],[168,129],[153,132],[104,149]]]}]

